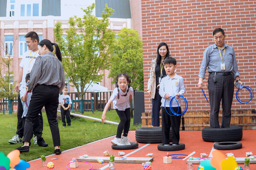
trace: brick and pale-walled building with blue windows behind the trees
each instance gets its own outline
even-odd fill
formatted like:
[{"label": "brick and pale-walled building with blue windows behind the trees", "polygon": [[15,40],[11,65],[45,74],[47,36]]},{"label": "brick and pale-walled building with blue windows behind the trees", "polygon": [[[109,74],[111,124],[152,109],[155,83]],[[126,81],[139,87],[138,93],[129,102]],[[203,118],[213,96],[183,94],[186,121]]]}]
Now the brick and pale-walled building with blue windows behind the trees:
[{"label": "brick and pale-walled building with blue windows behind the trees", "polygon": [[[67,29],[69,17],[83,17],[81,8],[87,8],[92,3],[96,3],[93,11],[96,17],[101,17],[106,3],[114,9],[109,28],[116,32],[124,27],[133,28],[142,34],[141,8],[137,0],[0,0],[0,56],[7,57],[10,54],[14,81],[17,80],[22,56],[27,51],[26,33],[35,31],[40,40],[49,39],[54,42],[55,23],[61,21],[62,28]],[[6,69],[2,68],[2,75]],[[108,78],[109,71],[104,70],[102,74],[105,77],[99,82],[100,85],[113,90],[112,79]],[[69,90],[76,91],[71,86]]]}]

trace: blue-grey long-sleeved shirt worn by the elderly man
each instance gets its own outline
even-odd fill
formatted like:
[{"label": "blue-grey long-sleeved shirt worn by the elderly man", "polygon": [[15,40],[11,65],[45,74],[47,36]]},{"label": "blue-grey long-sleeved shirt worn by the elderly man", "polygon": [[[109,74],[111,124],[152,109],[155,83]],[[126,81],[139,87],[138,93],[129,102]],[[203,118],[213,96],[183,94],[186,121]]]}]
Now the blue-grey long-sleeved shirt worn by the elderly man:
[{"label": "blue-grey long-sleeved shirt worn by the elderly man", "polygon": [[[205,79],[207,66],[208,72],[232,72],[234,79],[236,79],[236,76],[240,76],[234,49],[230,45],[224,43],[223,48],[220,50],[221,56],[223,56],[224,53],[223,61],[221,60],[220,52],[216,44],[205,49],[198,77]],[[221,63],[225,63],[225,70],[221,70]]]}]

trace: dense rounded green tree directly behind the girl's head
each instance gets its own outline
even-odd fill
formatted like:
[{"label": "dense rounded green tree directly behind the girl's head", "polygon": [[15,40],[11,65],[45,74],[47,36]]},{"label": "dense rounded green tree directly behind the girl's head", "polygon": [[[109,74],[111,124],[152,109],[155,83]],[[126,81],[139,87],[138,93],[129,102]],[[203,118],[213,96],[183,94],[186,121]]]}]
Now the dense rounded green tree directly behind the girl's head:
[{"label": "dense rounded green tree directly behind the girl's head", "polygon": [[116,76],[125,73],[130,76],[132,87],[143,90],[143,56],[142,40],[138,32],[133,29],[122,28],[116,37],[111,56],[111,70],[109,77],[116,82]]}]

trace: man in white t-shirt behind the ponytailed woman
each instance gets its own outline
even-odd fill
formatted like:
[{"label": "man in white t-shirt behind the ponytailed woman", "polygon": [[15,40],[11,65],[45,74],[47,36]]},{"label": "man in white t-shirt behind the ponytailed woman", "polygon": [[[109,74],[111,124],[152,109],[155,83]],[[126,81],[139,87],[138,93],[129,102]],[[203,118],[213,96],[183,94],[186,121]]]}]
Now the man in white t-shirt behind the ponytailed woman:
[{"label": "man in white t-shirt behind the ponytailed woman", "polygon": [[[32,70],[32,67],[35,63],[35,59],[38,57],[38,42],[39,37],[38,34],[35,31],[30,31],[25,35],[26,38],[26,45],[28,46],[29,50],[26,51],[23,55],[23,58],[20,62],[20,70],[18,74],[17,84],[15,86],[15,90],[17,92],[20,92],[20,85],[26,83],[25,77],[26,74],[30,73]],[[18,96],[18,109],[17,109],[17,131],[16,135],[12,137],[12,139],[9,140],[9,143],[11,144],[19,144],[22,143],[22,137],[23,137],[23,121],[22,121],[22,114],[23,114],[23,106],[20,100],[20,93]],[[43,117],[41,116],[41,122],[43,123]],[[43,124],[42,124],[43,125]],[[41,126],[43,128],[43,126]],[[43,130],[43,129],[42,129]],[[41,136],[40,136],[41,137]],[[34,141],[37,138],[34,138]],[[38,145],[45,145],[44,140],[41,143],[38,143]],[[35,143],[36,144],[36,143]]]}]

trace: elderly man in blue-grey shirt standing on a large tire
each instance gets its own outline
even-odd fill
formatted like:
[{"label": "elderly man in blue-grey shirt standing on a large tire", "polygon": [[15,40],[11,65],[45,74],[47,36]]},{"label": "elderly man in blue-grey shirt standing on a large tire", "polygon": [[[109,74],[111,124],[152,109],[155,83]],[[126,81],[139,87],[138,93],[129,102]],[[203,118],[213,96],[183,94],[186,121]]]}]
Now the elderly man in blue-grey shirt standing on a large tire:
[{"label": "elderly man in blue-grey shirt standing on a large tire", "polygon": [[225,44],[225,32],[216,28],[213,33],[215,44],[204,51],[204,57],[199,71],[198,87],[203,86],[205,71],[208,66],[208,91],[210,98],[210,127],[219,128],[218,113],[222,100],[221,128],[230,127],[231,105],[234,94],[234,81],[243,84],[239,78],[234,49]]}]

